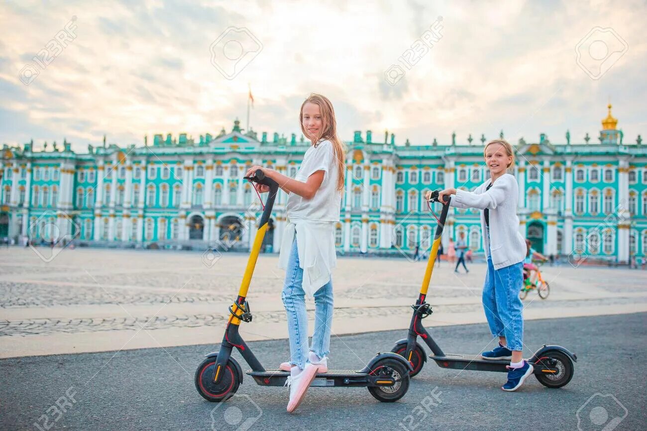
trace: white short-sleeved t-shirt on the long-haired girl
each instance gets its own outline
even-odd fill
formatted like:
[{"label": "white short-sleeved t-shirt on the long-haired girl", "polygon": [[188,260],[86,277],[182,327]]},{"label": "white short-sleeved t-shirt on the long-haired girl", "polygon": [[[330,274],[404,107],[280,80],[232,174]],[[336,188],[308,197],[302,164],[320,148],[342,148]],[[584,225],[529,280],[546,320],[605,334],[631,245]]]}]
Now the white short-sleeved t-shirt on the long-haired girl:
[{"label": "white short-sleeved t-shirt on the long-haired girl", "polygon": [[316,148],[311,145],[303,155],[303,162],[294,179],[306,182],[316,171],[324,171],[323,182],[313,199],[296,193],[287,198],[285,212],[289,219],[308,221],[339,221],[342,192],[337,190],[338,169],[334,160],[333,142],[323,140]]}]

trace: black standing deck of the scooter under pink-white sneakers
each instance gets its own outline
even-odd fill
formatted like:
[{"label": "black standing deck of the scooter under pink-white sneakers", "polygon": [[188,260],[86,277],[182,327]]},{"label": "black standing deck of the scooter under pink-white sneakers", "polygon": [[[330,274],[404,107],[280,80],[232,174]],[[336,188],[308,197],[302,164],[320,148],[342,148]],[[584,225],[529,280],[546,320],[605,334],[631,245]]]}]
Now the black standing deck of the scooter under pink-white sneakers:
[{"label": "black standing deck of the scooter under pink-white sneakers", "polygon": [[[261,386],[284,386],[288,371],[265,370],[247,371],[247,374],[254,378]],[[369,384],[369,382],[371,384]],[[327,373],[317,373],[310,386],[345,386],[345,387],[366,387],[366,386],[393,386],[395,380],[389,377],[373,377],[367,373],[360,373],[355,370],[329,370]]]}]

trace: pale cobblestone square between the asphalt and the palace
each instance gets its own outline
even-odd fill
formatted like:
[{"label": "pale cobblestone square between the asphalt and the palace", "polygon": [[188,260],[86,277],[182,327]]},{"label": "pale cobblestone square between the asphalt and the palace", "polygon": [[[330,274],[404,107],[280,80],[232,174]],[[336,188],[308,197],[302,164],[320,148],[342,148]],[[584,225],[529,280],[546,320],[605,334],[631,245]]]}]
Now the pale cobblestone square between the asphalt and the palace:
[{"label": "pale cobblestone square between the asphalt and the palace", "polygon": [[[61,335],[94,337],[82,351],[118,349],[109,342],[115,333],[142,329],[159,345],[182,344],[182,331],[226,322],[247,265],[246,254],[209,261],[199,252],[154,250],[63,250],[45,263],[30,249],[12,247],[0,249],[0,259],[2,357],[76,351],[65,347],[69,338],[57,338]],[[280,325],[285,322],[283,271],[277,261],[276,255],[261,255],[250,285],[254,323],[261,322],[254,327],[259,339],[285,337],[285,325]],[[405,327],[425,265],[397,258],[339,258],[333,276],[336,331]],[[484,321],[480,298],[485,265],[470,268],[469,274],[455,274],[443,262],[434,269],[428,301],[446,323]],[[569,265],[542,270],[551,294],[547,300],[529,294],[527,318],[647,311],[647,271]],[[191,334],[187,343],[207,342]],[[40,347],[32,351],[31,340]],[[137,347],[142,346],[124,346]]]}]

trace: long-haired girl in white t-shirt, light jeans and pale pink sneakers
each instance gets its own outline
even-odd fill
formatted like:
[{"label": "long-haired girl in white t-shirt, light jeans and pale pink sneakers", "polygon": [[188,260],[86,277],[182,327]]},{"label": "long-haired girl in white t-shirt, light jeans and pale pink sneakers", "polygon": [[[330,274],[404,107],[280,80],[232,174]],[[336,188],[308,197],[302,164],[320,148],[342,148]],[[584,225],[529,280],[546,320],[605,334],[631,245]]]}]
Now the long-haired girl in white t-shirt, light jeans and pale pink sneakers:
[{"label": "long-haired girl in white t-shirt, light jeans and pale pink sneakers", "polygon": [[[261,166],[289,194],[285,212],[287,226],[281,241],[279,265],[286,270],[283,305],[287,312],[290,354],[280,369],[290,371],[287,411],[293,412],[317,373],[328,371],[327,358],[333,319],[335,265],[333,226],[339,221],[344,190],[344,144],[337,137],[333,104],[321,94],[311,94],[301,105],[299,121],[303,135],[312,142],[294,178]],[[268,186],[256,184],[259,192]],[[314,334],[308,348],[308,316],[305,293],[314,296]]]}]

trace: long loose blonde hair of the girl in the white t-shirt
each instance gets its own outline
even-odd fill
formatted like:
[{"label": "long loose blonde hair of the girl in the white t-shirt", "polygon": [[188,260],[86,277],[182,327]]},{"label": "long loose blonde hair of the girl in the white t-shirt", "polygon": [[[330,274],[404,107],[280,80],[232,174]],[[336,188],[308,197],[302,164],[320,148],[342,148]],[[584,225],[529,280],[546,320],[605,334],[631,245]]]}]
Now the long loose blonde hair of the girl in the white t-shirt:
[{"label": "long loose blonde hair of the girl in the white t-shirt", "polygon": [[329,140],[333,143],[334,149],[334,161],[337,165],[337,190],[344,190],[344,178],[346,172],[346,148],[344,142],[337,136],[337,120],[334,118],[334,108],[330,100],[326,96],[321,94],[312,93],[308,98],[303,101],[301,109],[299,110],[299,124],[301,125],[301,130],[303,135],[308,136],[309,133],[303,127],[303,107],[305,104],[315,104],[318,105],[319,110],[322,114],[322,128],[320,135],[315,138],[314,145],[316,145],[320,140]]}]

